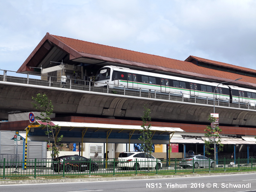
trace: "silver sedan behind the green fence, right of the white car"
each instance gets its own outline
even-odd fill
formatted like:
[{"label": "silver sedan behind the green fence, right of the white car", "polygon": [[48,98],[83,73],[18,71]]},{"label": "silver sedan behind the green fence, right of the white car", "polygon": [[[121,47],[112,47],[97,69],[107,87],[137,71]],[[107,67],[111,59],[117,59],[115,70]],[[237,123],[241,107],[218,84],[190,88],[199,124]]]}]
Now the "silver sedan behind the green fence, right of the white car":
[{"label": "silver sedan behind the green fence, right of the white car", "polygon": [[195,169],[197,169],[198,167],[203,168],[203,167],[209,167],[209,166],[213,168],[215,166],[215,163],[213,160],[203,155],[190,155],[180,160],[180,166],[183,169],[187,167],[193,167],[193,166]]}]

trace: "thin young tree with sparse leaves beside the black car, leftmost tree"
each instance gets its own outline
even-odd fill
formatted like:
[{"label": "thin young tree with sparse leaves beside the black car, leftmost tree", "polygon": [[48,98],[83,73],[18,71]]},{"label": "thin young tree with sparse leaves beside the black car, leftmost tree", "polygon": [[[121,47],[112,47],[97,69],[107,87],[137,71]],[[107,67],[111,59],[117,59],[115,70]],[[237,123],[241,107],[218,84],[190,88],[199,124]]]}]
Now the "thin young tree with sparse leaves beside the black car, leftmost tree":
[{"label": "thin young tree with sparse leaves beside the black car, leftmost tree", "polygon": [[[56,131],[60,127],[58,125],[52,125],[51,123],[50,115],[53,113],[52,101],[48,99],[46,94],[41,94],[41,93],[38,93],[36,97],[32,96],[32,99],[36,102],[36,103],[32,103],[33,107],[38,111],[41,111],[40,113],[41,117],[36,116],[35,119],[39,119],[42,122],[46,123],[47,131],[45,131],[45,134],[48,136],[48,143],[50,144],[50,139],[53,140],[53,145],[52,145],[53,154],[51,152],[51,156],[52,158],[54,157],[58,158],[59,151],[58,151],[57,143],[59,143],[62,140],[63,135],[57,138]],[[44,126],[45,125],[41,125],[41,127],[44,127]]]}]

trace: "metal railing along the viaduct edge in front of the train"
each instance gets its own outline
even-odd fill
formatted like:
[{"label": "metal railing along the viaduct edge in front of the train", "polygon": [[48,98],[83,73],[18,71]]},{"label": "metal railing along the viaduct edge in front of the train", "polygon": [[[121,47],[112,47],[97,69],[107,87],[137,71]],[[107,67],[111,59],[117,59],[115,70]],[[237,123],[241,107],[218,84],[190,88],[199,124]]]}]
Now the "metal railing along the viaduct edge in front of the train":
[{"label": "metal railing along the viaduct edge in front of the train", "polygon": [[[189,103],[204,104],[204,105],[214,105],[213,99],[215,99],[216,106],[250,109],[250,110],[256,109],[255,106],[251,106],[250,103],[248,102],[232,103],[230,102],[229,99],[225,99],[225,101],[223,101],[221,99],[214,98],[214,97],[202,98],[198,96],[187,96],[184,93],[174,94],[171,92],[160,92],[154,89],[151,89],[151,90],[145,90],[142,88],[132,89],[131,87],[127,87],[124,85],[121,88],[116,87],[114,89],[110,89],[109,86],[94,87],[94,82],[78,80],[78,79],[65,79],[66,82],[63,83],[61,82],[61,78],[58,78],[55,76],[43,76],[43,75],[35,76],[35,74],[16,73],[15,71],[8,71],[8,70],[0,70],[0,73],[3,73],[3,75],[0,74],[0,81],[12,82],[17,84],[33,84],[38,86],[64,88],[65,90],[67,89],[85,90],[85,91],[98,92],[98,93],[112,93],[116,95],[172,100],[172,101],[189,102]],[[10,74],[14,73],[16,76],[10,76],[9,73]],[[38,79],[35,79],[35,77]],[[47,80],[41,80],[39,78],[47,79]]]}]

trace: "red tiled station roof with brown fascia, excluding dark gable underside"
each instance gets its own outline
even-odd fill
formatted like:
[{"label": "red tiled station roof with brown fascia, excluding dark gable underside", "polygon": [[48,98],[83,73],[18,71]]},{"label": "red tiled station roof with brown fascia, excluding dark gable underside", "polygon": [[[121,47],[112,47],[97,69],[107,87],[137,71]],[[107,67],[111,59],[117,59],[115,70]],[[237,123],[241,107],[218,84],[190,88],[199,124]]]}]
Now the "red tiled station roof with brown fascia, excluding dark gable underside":
[{"label": "red tiled station roof with brown fascia, excluding dark gable underside", "polygon": [[[44,43],[46,41],[50,41],[64,49],[66,52],[70,53],[70,58],[80,58],[80,57],[88,57],[88,58],[96,58],[100,60],[106,60],[111,62],[120,62],[123,61],[124,64],[128,65],[136,65],[141,64],[140,67],[151,67],[153,70],[167,70],[172,71],[172,73],[177,74],[185,74],[189,76],[201,77],[204,79],[209,79],[210,81],[225,81],[227,79],[238,79],[247,84],[247,86],[256,87],[256,78],[250,76],[243,76],[236,73],[225,72],[221,70],[210,69],[202,66],[198,66],[193,64],[191,59],[197,59],[198,61],[208,62],[215,65],[222,65],[226,67],[236,68],[238,70],[255,72],[256,70],[250,70],[245,67],[239,67],[235,65],[225,64],[217,61],[211,61],[208,59],[198,58],[195,56],[190,56],[186,60],[188,61],[180,61],[172,58],[161,57],[157,55],[150,55],[142,52],[131,51],[127,49],[117,48],[106,46],[102,44],[95,44],[87,41],[81,41],[72,38],[61,37],[57,35],[50,35],[47,33],[45,37],[41,40],[38,46],[34,49],[34,51],[29,55],[23,65],[20,67],[18,72],[23,72],[29,70],[27,64],[33,64],[36,67],[38,62],[43,59],[44,54],[47,54],[47,49],[42,49],[44,52],[39,52],[42,47],[44,47]],[[35,54],[38,53],[40,57],[35,58]],[[118,61],[117,61],[118,60]],[[163,67],[163,68],[162,68]],[[236,83],[239,84],[238,81]],[[242,82],[241,82],[242,83]],[[249,84],[248,84],[249,83]]]}]

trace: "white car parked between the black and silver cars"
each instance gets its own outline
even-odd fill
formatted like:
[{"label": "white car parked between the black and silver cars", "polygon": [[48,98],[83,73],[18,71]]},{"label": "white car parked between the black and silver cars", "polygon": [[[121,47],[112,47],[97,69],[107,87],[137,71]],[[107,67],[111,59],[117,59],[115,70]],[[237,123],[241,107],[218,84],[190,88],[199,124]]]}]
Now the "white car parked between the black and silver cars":
[{"label": "white car parked between the black and silver cars", "polygon": [[[136,161],[137,159],[137,161]],[[122,169],[131,168],[139,170],[140,168],[161,169],[163,167],[160,160],[151,154],[143,152],[122,152],[118,157],[118,167]]]}]

